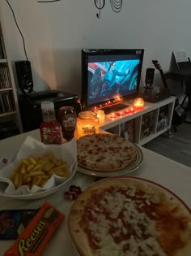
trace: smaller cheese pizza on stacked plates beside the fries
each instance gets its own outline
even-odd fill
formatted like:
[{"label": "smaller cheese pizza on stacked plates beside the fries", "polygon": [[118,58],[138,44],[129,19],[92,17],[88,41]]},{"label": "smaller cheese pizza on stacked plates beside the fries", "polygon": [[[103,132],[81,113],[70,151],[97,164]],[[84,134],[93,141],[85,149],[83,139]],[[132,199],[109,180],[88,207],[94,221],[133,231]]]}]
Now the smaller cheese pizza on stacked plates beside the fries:
[{"label": "smaller cheese pizza on stacked plates beside the fries", "polygon": [[92,171],[121,171],[137,158],[133,143],[116,134],[97,133],[77,140],[78,164]]}]

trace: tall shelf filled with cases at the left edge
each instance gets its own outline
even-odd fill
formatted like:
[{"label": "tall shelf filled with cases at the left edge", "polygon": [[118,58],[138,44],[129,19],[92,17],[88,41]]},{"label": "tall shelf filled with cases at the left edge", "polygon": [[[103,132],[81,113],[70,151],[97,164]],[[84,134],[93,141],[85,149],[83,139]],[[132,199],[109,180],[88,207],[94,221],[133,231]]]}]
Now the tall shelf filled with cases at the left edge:
[{"label": "tall shelf filled with cases at the left edge", "polygon": [[[15,88],[12,64],[10,59],[9,44],[6,40],[6,30],[4,26],[4,12],[0,7],[0,132],[3,137],[12,134],[11,126],[14,130],[22,132],[22,123],[19,113],[19,103]],[[10,128],[6,127],[9,126]],[[6,131],[6,132],[5,132]],[[1,137],[0,137],[1,139]]]}]

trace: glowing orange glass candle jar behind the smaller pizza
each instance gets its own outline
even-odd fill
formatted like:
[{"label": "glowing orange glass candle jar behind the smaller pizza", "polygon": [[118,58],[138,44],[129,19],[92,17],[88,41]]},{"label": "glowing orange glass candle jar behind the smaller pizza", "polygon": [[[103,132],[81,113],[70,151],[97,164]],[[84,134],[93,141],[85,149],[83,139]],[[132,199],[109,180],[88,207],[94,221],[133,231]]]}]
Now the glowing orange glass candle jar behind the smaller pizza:
[{"label": "glowing orange glass candle jar behind the smaller pizza", "polygon": [[97,114],[93,111],[80,112],[77,119],[77,132],[78,137],[99,133],[99,118]]}]

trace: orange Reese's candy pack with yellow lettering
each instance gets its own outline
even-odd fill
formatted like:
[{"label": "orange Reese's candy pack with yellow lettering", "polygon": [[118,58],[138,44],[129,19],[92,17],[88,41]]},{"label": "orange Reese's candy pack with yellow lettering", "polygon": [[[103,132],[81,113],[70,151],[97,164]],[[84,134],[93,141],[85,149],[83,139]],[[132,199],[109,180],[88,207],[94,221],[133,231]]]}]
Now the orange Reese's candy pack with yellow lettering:
[{"label": "orange Reese's candy pack with yellow lettering", "polygon": [[64,217],[45,202],[4,256],[39,256]]}]

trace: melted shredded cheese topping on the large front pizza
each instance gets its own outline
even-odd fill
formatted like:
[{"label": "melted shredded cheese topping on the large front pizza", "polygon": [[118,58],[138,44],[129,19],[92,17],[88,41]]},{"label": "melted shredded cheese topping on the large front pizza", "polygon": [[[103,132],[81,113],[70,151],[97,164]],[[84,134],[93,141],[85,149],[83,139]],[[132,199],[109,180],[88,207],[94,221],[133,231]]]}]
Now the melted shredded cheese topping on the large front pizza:
[{"label": "melted shredded cheese topping on the large front pizza", "polygon": [[145,210],[157,198],[132,187],[105,189],[100,201],[91,199],[83,221],[96,256],[167,256],[157,241],[155,213]]}]

